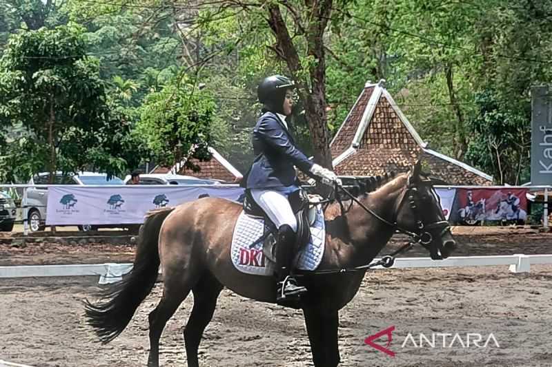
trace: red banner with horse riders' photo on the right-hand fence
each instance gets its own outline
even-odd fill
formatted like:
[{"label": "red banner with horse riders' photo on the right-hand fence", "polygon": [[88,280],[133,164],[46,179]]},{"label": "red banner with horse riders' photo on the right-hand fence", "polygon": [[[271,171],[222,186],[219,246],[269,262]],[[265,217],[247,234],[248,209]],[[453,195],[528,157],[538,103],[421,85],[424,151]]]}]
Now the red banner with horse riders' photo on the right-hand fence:
[{"label": "red banner with horse riders' photo on the right-hand fence", "polygon": [[460,224],[524,224],[527,219],[527,189],[457,189],[455,216]]}]

